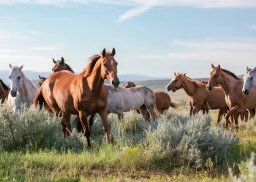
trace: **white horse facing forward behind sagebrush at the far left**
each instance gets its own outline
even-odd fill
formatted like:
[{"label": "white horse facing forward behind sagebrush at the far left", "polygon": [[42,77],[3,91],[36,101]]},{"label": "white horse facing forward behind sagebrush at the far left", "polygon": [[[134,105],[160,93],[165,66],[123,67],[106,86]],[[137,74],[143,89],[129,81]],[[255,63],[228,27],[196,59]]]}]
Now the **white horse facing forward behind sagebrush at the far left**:
[{"label": "white horse facing forward behind sagebrush at the far left", "polygon": [[29,107],[35,95],[37,95],[37,86],[34,85],[21,71],[23,66],[17,67],[10,64],[10,92],[8,95],[7,104],[15,113],[20,110],[21,106],[25,104]]}]

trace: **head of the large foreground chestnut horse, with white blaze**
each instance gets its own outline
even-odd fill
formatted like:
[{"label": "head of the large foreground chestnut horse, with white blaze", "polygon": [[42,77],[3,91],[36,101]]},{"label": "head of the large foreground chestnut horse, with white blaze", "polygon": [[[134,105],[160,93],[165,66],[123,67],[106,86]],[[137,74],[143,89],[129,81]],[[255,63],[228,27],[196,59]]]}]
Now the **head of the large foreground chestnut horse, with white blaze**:
[{"label": "head of the large foreground chestnut horse, with white blaze", "polygon": [[118,87],[120,84],[117,76],[117,65],[114,56],[116,55],[116,50],[113,48],[112,52],[106,52],[104,49],[102,51],[102,78],[108,79],[111,85]]}]

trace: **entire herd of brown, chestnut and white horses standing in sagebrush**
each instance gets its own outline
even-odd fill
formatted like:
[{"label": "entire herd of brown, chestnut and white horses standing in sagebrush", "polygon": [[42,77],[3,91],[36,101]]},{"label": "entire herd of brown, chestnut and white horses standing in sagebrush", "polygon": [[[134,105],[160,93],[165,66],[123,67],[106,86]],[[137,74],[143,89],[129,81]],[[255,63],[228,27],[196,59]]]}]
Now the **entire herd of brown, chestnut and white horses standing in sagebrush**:
[{"label": "entire herd of brown, chestnut and white horses standing in sagebrush", "polygon": [[[95,114],[99,114],[106,141],[110,142],[108,114],[117,114],[118,119],[122,120],[124,112],[133,110],[142,114],[146,122],[150,122],[150,116],[155,120],[169,107],[177,108],[177,104],[172,102],[166,92],[153,92],[148,87],[136,86],[133,82],[126,82],[124,87],[120,87],[115,55],[114,48],[111,52],[102,50],[101,54],[91,56],[88,66],[80,74],[75,74],[64,58],[59,61],[53,59],[53,74],[48,78],[39,76],[38,86],[26,78],[23,66],[10,65],[10,85],[7,86],[0,79],[1,100],[3,103],[6,100],[13,113],[20,111],[23,105],[29,107],[34,104],[61,116],[63,138],[72,134],[70,117],[76,115],[78,131],[83,131],[89,148]],[[244,79],[239,79],[220,66],[212,65],[212,68],[208,82],[197,82],[186,74],[175,73],[166,90],[175,92],[182,88],[187,93],[190,116],[199,111],[208,113],[209,109],[219,109],[217,123],[225,114],[226,127],[231,116],[238,130],[238,116],[247,121],[247,110],[251,118],[255,116],[256,68],[246,68]],[[104,84],[105,79],[110,85]]]}]

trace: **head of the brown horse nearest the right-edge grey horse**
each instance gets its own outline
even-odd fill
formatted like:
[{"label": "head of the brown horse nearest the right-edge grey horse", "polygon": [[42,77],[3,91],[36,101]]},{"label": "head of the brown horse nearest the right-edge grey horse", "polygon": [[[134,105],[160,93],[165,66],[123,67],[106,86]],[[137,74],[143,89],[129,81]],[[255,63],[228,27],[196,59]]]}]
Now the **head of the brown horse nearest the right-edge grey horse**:
[{"label": "head of the brown horse nearest the right-edge grey horse", "polygon": [[206,84],[206,88],[208,91],[211,91],[214,86],[217,84],[221,84],[222,82],[222,69],[218,65],[218,67],[215,67],[213,64],[211,64],[211,67],[213,68],[213,71],[211,71],[210,79],[208,81],[208,84]]}]

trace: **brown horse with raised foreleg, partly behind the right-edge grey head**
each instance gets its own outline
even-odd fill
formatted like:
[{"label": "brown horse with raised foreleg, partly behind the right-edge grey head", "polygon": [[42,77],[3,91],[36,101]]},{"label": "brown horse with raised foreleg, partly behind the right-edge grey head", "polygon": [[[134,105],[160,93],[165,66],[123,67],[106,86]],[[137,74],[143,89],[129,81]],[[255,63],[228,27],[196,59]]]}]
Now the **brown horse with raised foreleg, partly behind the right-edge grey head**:
[{"label": "brown horse with raised foreleg, partly behind the right-edge grey head", "polygon": [[206,88],[208,91],[213,90],[214,86],[220,84],[225,92],[225,100],[230,111],[225,114],[226,123],[225,126],[228,128],[228,118],[231,116],[236,125],[236,131],[238,131],[238,115],[243,114],[245,109],[256,108],[256,88],[252,88],[251,92],[247,96],[241,92],[244,80],[239,79],[236,74],[231,71],[215,67],[211,64],[213,70],[210,73],[210,79]]}]

